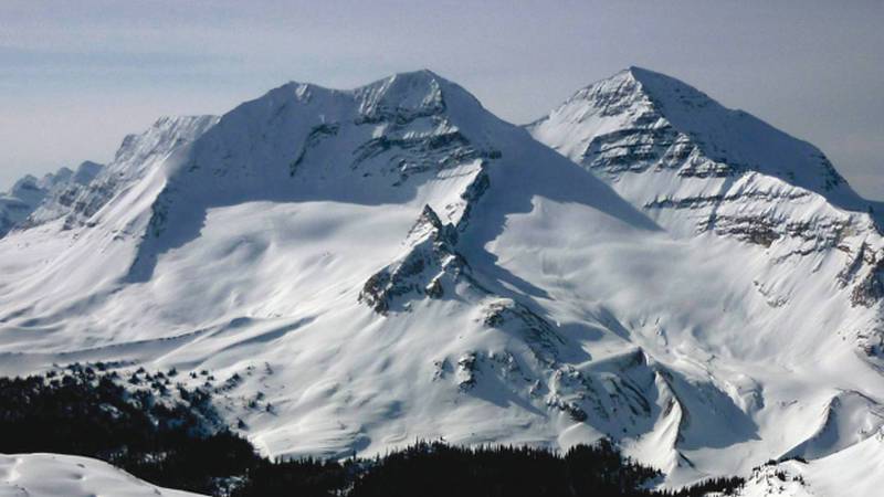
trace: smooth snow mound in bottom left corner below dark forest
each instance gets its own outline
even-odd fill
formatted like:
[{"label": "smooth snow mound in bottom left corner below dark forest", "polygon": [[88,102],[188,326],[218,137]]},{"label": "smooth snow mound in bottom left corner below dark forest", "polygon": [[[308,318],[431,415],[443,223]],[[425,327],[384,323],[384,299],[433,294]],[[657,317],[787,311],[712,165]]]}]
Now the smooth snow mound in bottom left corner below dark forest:
[{"label": "smooth snow mound in bottom left corner below dark forest", "polygon": [[0,454],[0,497],[197,497],[141,482],[109,464],[57,454]]}]

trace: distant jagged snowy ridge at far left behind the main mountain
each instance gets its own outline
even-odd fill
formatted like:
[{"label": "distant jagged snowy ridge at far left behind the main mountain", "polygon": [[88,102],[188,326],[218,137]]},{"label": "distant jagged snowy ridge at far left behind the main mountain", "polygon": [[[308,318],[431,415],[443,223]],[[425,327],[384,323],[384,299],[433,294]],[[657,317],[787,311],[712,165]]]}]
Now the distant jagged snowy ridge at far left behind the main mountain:
[{"label": "distant jagged snowy ridge at far left behind the main mountain", "polygon": [[85,161],[76,171],[61,168],[41,179],[25,176],[15,182],[8,193],[0,194],[0,237],[10,230],[28,224],[28,218],[41,205],[70,191],[81,189],[92,182],[104,166]]}]

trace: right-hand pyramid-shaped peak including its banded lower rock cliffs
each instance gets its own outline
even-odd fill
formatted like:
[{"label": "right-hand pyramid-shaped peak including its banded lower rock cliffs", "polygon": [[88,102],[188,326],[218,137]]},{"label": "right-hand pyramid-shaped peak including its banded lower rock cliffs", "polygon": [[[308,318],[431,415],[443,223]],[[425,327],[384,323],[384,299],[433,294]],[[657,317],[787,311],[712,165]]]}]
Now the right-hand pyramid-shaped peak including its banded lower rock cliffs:
[{"label": "right-hand pyramid-shaped peak including its banded lower rock cliffs", "polygon": [[836,248],[853,304],[882,297],[873,203],[812,145],[696,88],[632,67],[528,128],[678,236],[728,236],[780,261]]}]

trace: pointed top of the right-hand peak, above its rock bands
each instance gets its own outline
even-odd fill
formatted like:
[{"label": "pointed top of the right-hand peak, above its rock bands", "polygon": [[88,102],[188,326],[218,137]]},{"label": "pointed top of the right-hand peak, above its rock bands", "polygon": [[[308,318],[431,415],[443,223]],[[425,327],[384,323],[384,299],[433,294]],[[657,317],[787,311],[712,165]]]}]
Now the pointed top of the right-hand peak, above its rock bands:
[{"label": "pointed top of the right-hand peak, above its rock bands", "polygon": [[[841,208],[864,211],[867,204],[818,148],[743,110],[724,107],[682,81],[641,67],[629,67],[581,88],[529,129],[540,141],[577,161],[620,134],[642,130],[645,141],[681,144],[680,154],[696,149],[711,161],[711,168],[699,172],[704,177],[756,171],[820,193]],[[636,156],[630,168],[643,170],[661,159],[642,157]],[[696,172],[687,168],[681,176]]]}]

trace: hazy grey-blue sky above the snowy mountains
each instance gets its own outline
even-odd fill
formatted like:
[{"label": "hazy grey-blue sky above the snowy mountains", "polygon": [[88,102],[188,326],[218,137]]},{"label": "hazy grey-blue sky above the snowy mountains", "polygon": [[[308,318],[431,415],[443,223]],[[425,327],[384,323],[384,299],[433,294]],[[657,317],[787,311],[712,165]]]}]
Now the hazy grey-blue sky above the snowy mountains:
[{"label": "hazy grey-blue sky above the snowy mountains", "polygon": [[0,0],[0,190],[168,114],[431,68],[505,119],[629,65],[822,148],[884,200],[884,0]]}]

